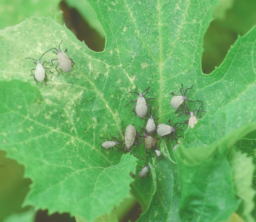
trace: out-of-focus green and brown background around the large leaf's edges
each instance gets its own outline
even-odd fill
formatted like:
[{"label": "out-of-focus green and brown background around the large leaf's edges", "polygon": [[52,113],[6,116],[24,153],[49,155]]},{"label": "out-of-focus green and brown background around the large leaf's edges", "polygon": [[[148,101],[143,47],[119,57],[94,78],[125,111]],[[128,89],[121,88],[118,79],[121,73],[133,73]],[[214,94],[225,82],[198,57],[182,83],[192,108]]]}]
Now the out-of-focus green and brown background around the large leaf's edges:
[{"label": "out-of-focus green and brown background around the large leaf's edges", "polygon": [[[81,5],[83,10],[79,11]],[[104,30],[95,19],[96,14],[91,6],[84,0],[0,0],[0,29],[19,24],[30,16],[51,16],[57,22],[65,23],[93,51],[104,50]],[[202,71],[206,74],[222,63],[238,35],[244,35],[256,24],[256,1],[220,0],[213,18],[204,36]],[[22,208],[21,204],[32,183],[23,178],[24,167],[5,156],[6,153],[0,151],[0,222],[8,222],[7,217],[11,213],[26,212],[29,209]],[[123,222],[135,221],[140,215],[140,206],[134,200],[129,200],[129,206],[133,213],[120,215]],[[34,217],[33,211],[31,214]],[[48,216],[47,211],[37,211],[35,221],[75,222],[75,219],[68,214],[55,213]]]}]

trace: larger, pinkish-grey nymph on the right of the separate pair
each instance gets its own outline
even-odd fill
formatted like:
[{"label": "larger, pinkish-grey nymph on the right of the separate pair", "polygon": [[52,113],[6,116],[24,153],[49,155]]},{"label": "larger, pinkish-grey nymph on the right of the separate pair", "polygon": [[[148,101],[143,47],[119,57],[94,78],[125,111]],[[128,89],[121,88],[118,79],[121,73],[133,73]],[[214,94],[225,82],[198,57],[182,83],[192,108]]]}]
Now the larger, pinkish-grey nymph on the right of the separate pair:
[{"label": "larger, pinkish-grey nymph on the right of the separate pair", "polygon": [[[61,40],[62,42],[63,40]],[[57,67],[58,65],[61,67],[61,69],[64,71],[64,72],[69,72],[72,68],[72,66],[75,64],[75,62],[73,62],[72,59],[68,58],[68,56],[66,55],[66,51],[68,51],[68,49],[65,49],[65,51],[61,51],[61,43],[59,44],[59,49],[56,49],[56,48],[52,48],[52,49],[55,49],[57,52],[53,51],[55,54],[57,54],[58,58],[57,59],[53,59],[51,60],[54,61],[54,60],[58,60],[58,64],[57,66],[55,67],[56,71],[58,72],[58,75],[59,75],[59,71],[57,70]],[[53,63],[52,63],[53,65]]]}]

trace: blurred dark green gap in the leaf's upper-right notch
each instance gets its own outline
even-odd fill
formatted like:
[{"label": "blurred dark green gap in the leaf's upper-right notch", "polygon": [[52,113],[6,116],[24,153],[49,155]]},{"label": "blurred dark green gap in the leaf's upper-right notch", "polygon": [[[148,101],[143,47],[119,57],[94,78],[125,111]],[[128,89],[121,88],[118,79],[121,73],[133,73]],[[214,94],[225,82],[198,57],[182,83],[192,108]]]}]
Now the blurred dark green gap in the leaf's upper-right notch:
[{"label": "blurred dark green gap in the leaf's upper-right notch", "polygon": [[234,0],[228,7],[227,4],[224,1],[224,6],[217,5],[215,20],[204,35],[202,71],[206,74],[220,66],[238,35],[243,36],[256,24],[255,0]]}]

